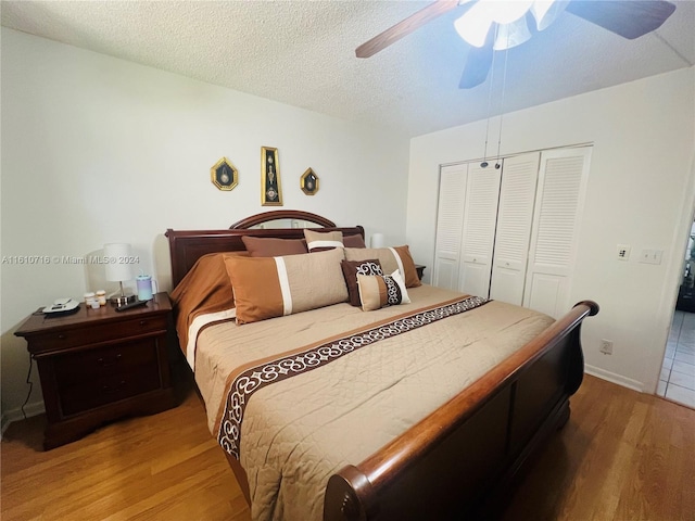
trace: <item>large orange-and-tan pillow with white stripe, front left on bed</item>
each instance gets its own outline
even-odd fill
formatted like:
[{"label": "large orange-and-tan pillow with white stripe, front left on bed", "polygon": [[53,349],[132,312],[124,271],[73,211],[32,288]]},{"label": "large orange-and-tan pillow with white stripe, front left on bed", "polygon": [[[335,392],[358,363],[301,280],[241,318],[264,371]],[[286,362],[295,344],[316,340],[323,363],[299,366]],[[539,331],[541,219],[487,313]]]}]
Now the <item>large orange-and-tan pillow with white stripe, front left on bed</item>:
[{"label": "large orange-and-tan pillow with white stripe, front left on bed", "polygon": [[225,257],[237,323],[256,322],[348,300],[343,249],[283,257]]}]

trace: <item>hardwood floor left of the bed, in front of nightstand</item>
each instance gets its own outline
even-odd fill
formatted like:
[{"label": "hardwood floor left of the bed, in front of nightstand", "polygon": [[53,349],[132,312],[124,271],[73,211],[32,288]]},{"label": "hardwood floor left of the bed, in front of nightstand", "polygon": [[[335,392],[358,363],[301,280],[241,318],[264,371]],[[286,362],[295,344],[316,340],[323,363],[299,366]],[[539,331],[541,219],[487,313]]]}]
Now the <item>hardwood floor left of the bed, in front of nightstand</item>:
[{"label": "hardwood floor left of the bed, in front of nightstand", "polygon": [[251,519],[198,395],[159,415],[112,423],[42,452],[45,417],[10,425],[2,521]]}]

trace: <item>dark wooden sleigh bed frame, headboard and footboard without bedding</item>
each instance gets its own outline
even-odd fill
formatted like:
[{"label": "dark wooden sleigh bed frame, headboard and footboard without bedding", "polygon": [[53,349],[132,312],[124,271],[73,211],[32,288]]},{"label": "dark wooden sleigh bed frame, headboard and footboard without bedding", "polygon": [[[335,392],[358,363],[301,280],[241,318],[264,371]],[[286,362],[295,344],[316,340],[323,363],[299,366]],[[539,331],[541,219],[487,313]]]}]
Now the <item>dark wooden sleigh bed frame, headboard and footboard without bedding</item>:
[{"label": "dark wooden sleigh bed frame, headboard and footboard without bedding", "polygon": [[[167,230],[174,287],[208,253],[245,251],[244,236],[302,239],[302,228],[253,228],[277,219],[309,221],[321,231],[359,234],[318,215],[275,211],[227,230]],[[598,313],[582,301],[521,350],[463,390],[402,435],[333,474],[324,519],[422,520],[477,518],[494,509],[500,494],[530,456],[569,419],[569,397],[584,371],[581,322]],[[227,459],[249,500],[245,472]]]}]

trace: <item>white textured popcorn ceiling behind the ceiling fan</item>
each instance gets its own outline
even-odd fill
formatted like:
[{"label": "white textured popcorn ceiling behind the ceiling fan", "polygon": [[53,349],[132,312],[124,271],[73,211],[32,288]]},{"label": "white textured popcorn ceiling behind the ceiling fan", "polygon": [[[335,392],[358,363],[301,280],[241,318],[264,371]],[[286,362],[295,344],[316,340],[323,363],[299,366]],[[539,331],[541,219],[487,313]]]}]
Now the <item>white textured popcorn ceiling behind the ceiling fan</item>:
[{"label": "white textured popcorn ceiling behind the ceiling fan", "polygon": [[3,0],[1,9],[7,27],[406,136],[695,63],[692,0],[674,1],[664,26],[636,40],[566,12],[508,51],[506,81],[496,53],[493,75],[470,90],[458,89],[468,46],[453,28],[457,10],[355,58],[428,3]]}]

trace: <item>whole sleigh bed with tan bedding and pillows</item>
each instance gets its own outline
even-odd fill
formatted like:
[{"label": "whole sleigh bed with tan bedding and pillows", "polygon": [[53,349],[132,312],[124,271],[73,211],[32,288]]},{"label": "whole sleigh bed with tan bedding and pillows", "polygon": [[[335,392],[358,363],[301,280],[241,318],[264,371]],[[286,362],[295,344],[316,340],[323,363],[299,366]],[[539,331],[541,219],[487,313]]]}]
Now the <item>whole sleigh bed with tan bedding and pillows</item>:
[{"label": "whole sleigh bed with tan bedding and pillows", "polygon": [[254,519],[483,516],[569,418],[592,301],[553,320],[424,284],[407,245],[306,212],[166,237],[179,344]]}]

